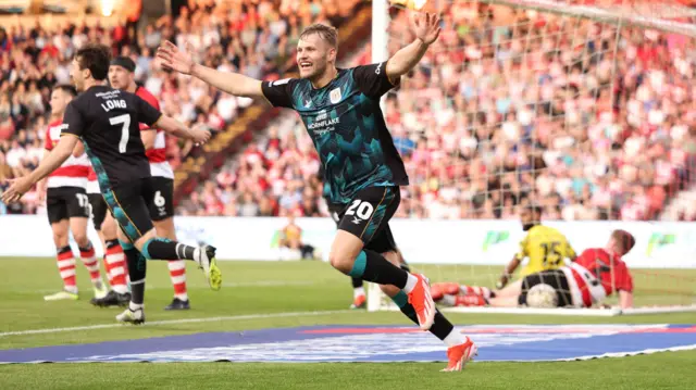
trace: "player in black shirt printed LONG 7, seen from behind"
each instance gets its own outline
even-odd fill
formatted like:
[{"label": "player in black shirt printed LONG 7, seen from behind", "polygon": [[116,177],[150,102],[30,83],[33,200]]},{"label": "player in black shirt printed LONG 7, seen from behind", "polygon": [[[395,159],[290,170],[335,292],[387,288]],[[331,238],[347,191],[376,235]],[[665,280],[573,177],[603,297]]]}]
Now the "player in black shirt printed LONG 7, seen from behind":
[{"label": "player in black shirt printed LONG 7, seen from behind", "polygon": [[203,268],[213,289],[219,289],[222,280],[215,265],[215,248],[195,248],[157,237],[149,213],[149,202],[153,199],[150,165],[138,124],[157,125],[199,143],[208,141],[210,133],[188,129],[139,97],[107,86],[110,60],[110,49],[104,46],[86,45],[77,51],[71,77],[82,95],[65,110],[60,141],[34,172],[14,180],[2,200],[18,201],[32,186],[67,160],[82,140],[101,193],[121,227],[119,240],[128,262],[132,299],[128,309],[116,319],[141,324],[145,322],[146,260],[191,260]]}]

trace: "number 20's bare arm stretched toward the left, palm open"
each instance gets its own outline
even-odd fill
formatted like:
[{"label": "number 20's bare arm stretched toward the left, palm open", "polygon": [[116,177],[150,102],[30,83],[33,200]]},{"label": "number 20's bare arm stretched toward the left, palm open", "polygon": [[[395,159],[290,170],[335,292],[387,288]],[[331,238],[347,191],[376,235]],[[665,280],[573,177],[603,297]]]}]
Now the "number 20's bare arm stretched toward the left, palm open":
[{"label": "number 20's bare arm stretched toward the left, palm open", "polygon": [[[190,51],[190,45],[188,51]],[[179,50],[169,40],[157,49],[157,58],[162,61],[162,67],[200,78],[229,95],[246,98],[263,97],[261,80],[239,73],[219,72],[197,64],[189,53]]]}]

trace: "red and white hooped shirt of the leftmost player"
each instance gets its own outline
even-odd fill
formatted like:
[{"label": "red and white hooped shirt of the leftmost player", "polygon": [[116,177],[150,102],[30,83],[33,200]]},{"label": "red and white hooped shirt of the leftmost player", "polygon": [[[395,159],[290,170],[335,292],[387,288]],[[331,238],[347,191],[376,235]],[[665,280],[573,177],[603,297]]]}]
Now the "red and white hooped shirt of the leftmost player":
[{"label": "red and white hooped shirt of the leftmost player", "polygon": [[[46,141],[44,148],[48,151],[53,150],[61,139],[61,131],[65,126],[62,119],[57,119],[48,125],[46,130]],[[67,160],[58,169],[48,175],[47,187],[80,187],[87,186],[87,175],[89,174],[89,159],[86,153],[76,158],[71,154]]]}]

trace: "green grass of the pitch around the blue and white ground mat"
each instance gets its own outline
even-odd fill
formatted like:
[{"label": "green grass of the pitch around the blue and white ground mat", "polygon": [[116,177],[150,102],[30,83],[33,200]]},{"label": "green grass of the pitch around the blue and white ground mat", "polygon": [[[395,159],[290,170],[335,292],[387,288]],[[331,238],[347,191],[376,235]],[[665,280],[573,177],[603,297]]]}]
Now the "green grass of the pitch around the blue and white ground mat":
[{"label": "green grass of the pitch around the blue and white ground mat", "polygon": [[[146,313],[141,327],[110,327],[57,334],[13,335],[0,337],[0,349],[30,348],[67,343],[100,342],[202,331],[225,331],[321,324],[410,324],[400,313],[345,311],[351,300],[349,279],[325,263],[319,262],[222,262],[225,284],[219,292],[210,291],[202,274],[189,264],[188,286],[192,310],[164,312],[172,299],[166,265],[148,264]],[[471,267],[423,267],[428,274],[475,275]],[[473,272],[472,272],[473,269]],[[448,272],[450,271],[450,272]],[[58,291],[61,281],[50,259],[0,260],[0,332],[44,328],[62,328],[113,324],[116,309],[96,309],[89,278],[77,266],[79,301],[45,302],[42,295]],[[686,273],[686,274],[693,274]],[[684,273],[682,272],[682,275]],[[694,276],[694,275],[687,275]],[[473,281],[487,281],[485,280]],[[471,281],[471,280],[468,280]],[[639,281],[636,280],[636,285]],[[639,285],[637,286],[639,291]],[[660,297],[650,294],[650,301]],[[338,311],[307,316],[270,318],[236,316]],[[171,319],[225,317],[228,319],[152,324]],[[525,315],[448,315],[457,325],[467,324],[695,324],[695,313],[624,317],[556,317]],[[234,319],[232,319],[234,318]],[[443,354],[445,353],[443,348]],[[696,379],[692,367],[696,352],[659,353],[648,356],[571,363],[475,363],[463,376],[438,373],[444,364],[52,364],[0,366],[2,389],[95,389],[182,388],[210,389],[231,387],[273,389],[326,388],[455,388],[475,389],[540,388],[660,388],[689,389]],[[421,385],[419,385],[421,383]]]}]

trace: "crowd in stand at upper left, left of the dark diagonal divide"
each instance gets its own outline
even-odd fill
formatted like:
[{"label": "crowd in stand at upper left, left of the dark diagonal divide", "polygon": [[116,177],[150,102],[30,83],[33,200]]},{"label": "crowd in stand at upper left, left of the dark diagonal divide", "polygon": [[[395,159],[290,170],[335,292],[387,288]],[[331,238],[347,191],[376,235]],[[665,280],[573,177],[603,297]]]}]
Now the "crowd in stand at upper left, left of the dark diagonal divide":
[{"label": "crowd in stand at upper left, left of the dark diagonal divide", "polygon": [[[361,0],[291,1],[245,0],[236,2],[189,0],[176,17],[162,16],[136,28],[138,17],[103,27],[84,23],[30,28],[0,27],[0,191],[7,179],[37,166],[44,153],[44,137],[51,88],[70,84],[70,63],[85,42],[99,42],[114,55],[128,55],[137,64],[136,78],[161,103],[162,111],[190,126],[207,126],[213,133],[232,123],[250,99],[220,93],[188,76],[161,71],[153,53],[167,39],[179,47],[190,43],[197,60],[221,71],[257,78],[278,77],[294,59],[299,32],[314,22],[338,24],[351,15]],[[167,153],[174,167],[192,144],[170,137]],[[29,192],[22,203],[2,213],[35,213],[39,197]]]}]

